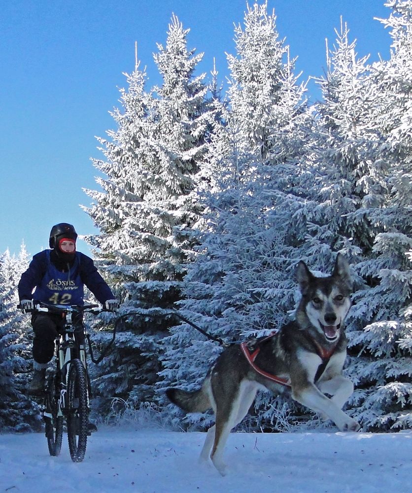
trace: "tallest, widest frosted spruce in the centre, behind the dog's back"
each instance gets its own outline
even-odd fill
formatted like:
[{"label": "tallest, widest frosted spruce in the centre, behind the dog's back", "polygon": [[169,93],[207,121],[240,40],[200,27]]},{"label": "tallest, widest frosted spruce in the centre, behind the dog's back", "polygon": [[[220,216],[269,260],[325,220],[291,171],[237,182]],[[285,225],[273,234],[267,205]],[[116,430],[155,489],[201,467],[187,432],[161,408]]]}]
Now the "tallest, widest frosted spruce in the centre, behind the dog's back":
[{"label": "tallest, widest frosted spruce in the centre, behind the dog's back", "polygon": [[[294,307],[293,268],[306,234],[304,210],[310,209],[305,201],[310,187],[304,183],[311,176],[302,164],[312,125],[302,102],[304,87],[296,83],[266,3],[247,8],[244,31],[236,28],[235,41],[238,54],[228,56],[227,125],[212,142],[209,166],[217,179],[206,197],[207,228],[180,303],[186,317],[229,342],[268,334]],[[169,348],[162,388],[198,387],[221,351],[188,325],[172,328],[164,342]],[[261,396],[256,407],[271,399]],[[276,410],[266,411],[254,426],[276,426]],[[209,422],[207,415],[186,417],[188,425]]]}]

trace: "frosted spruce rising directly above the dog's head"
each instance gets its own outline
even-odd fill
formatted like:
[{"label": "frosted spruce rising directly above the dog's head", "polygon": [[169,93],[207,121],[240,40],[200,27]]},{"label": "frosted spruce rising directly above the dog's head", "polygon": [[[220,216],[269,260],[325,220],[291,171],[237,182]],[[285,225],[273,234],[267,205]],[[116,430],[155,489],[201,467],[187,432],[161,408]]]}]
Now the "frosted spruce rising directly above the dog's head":
[{"label": "frosted spruce rising directly above the dog's head", "polygon": [[[336,33],[336,44],[327,52],[326,76],[318,80],[323,101],[316,105],[314,166],[318,177],[312,197],[317,206],[309,217],[307,239],[308,255],[322,259],[322,270],[331,265],[334,251],[354,260],[370,253],[373,227],[368,201],[382,191],[369,173],[373,167],[370,151],[378,142],[370,124],[373,96],[368,57],[357,57],[355,42],[349,41],[342,19]],[[357,278],[359,285],[362,281]]]}]

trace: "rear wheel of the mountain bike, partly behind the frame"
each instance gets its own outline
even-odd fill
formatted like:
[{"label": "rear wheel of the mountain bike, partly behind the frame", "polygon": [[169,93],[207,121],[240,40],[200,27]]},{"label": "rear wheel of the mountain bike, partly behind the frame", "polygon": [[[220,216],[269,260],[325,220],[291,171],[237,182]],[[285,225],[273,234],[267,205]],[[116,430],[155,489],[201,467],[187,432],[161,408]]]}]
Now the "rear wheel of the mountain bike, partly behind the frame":
[{"label": "rear wheel of the mountain bike, partly behind the frame", "polygon": [[58,456],[62,449],[63,416],[58,416],[59,397],[59,383],[54,376],[47,386],[46,410],[43,412],[47,445],[51,456]]}]

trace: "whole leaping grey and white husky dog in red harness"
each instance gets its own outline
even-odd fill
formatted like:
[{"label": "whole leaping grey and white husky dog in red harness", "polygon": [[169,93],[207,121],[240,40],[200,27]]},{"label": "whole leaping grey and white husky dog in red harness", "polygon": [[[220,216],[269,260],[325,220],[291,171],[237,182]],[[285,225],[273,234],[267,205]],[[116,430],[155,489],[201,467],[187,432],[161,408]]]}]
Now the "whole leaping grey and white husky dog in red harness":
[{"label": "whole leaping grey and white husky dog in red harness", "polygon": [[169,399],[186,412],[213,409],[215,424],[207,431],[201,458],[207,460],[211,450],[210,458],[222,475],[226,440],[246,416],[259,388],[275,394],[289,389],[293,399],[323,420],[330,418],[341,431],[360,429],[342,411],[353,392],[352,382],[342,375],[347,344],[343,320],[352,290],[349,265],[338,254],[332,275],[315,277],[301,261],[297,280],[302,298],[295,321],[263,340],[227,348],[200,389],[167,390]]}]

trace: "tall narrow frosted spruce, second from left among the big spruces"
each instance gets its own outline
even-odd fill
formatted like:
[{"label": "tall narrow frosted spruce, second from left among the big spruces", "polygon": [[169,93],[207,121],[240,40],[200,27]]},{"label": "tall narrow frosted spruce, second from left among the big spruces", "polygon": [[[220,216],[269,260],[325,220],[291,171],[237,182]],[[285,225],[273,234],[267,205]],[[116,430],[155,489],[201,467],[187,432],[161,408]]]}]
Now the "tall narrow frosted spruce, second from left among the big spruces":
[{"label": "tall narrow frosted spruce, second from left among the big spruces", "polygon": [[159,197],[171,214],[168,234],[174,279],[181,281],[187,255],[193,249],[192,227],[199,220],[203,205],[195,190],[210,180],[205,174],[208,142],[216,125],[218,102],[210,101],[205,73],[195,74],[203,53],[188,50],[189,30],[173,15],[166,47],[158,44],[154,60],[163,78],[154,88],[156,123],[155,147],[161,166]]}]

